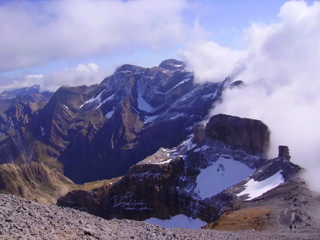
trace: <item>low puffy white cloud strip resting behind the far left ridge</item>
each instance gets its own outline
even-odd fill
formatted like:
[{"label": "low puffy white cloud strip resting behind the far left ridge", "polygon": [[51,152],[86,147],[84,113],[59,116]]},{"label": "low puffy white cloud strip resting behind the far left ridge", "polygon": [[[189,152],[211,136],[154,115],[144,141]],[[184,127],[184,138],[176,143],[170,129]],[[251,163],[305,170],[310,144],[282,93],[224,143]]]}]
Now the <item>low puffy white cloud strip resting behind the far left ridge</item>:
[{"label": "low puffy white cloud strip resting behind the far left ridge", "polygon": [[0,92],[34,84],[40,85],[40,91],[55,92],[60,86],[80,86],[99,84],[106,76],[112,74],[116,68],[105,70],[96,63],[79,64],[75,68],[55,70],[48,75],[15,76],[12,78],[0,77]]}]

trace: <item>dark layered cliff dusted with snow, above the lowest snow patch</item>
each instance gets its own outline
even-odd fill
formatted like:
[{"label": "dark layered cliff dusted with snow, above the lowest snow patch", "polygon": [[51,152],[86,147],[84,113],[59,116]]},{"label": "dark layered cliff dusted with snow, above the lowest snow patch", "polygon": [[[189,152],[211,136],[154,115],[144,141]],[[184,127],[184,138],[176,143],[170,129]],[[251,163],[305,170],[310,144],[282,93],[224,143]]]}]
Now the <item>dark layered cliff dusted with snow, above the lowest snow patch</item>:
[{"label": "dark layered cliff dusted with snow, above the lowest snow patch", "polygon": [[92,191],[73,191],[57,201],[57,205],[78,208],[105,219],[145,220],[150,217],[168,219],[184,214],[211,222],[219,215],[213,201],[229,201],[228,195],[201,200],[178,187],[184,172],[181,157],[169,164],[136,164],[115,184]]}]

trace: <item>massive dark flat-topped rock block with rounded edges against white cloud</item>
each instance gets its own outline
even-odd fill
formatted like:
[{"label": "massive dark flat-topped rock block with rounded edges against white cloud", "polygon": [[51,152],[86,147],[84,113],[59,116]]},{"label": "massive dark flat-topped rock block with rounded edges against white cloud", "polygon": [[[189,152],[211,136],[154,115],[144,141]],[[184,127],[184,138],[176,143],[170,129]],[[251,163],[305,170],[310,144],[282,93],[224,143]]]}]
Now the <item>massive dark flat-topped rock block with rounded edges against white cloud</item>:
[{"label": "massive dark flat-topped rock block with rounded edges against white cloud", "polygon": [[210,118],[205,134],[257,156],[266,154],[270,147],[268,126],[259,120],[217,114]]}]

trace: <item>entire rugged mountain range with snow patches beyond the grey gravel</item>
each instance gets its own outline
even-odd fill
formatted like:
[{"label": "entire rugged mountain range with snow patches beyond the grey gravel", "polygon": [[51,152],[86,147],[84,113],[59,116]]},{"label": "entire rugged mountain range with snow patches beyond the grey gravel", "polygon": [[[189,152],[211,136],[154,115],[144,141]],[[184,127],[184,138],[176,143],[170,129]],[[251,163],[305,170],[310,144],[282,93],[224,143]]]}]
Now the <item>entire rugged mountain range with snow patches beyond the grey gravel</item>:
[{"label": "entire rugged mountain range with snow patches beyond the grey gravel", "polygon": [[289,148],[268,159],[266,124],[209,115],[226,88],[245,86],[230,77],[197,84],[184,62],[168,59],[122,65],[92,86],[24,92],[46,97],[0,116],[0,191],[166,227],[276,229],[295,239],[283,230],[294,221],[303,239],[317,239],[308,234],[320,236],[320,198]]}]

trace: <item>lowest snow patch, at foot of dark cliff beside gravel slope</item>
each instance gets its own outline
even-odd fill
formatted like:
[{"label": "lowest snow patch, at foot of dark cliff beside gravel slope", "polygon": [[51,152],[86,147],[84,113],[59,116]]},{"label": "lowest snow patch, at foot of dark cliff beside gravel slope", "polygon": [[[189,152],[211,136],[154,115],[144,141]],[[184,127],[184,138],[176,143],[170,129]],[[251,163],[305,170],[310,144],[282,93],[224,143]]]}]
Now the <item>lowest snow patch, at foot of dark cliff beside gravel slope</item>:
[{"label": "lowest snow patch, at foot of dark cliff beside gravel slope", "polygon": [[149,218],[144,220],[144,222],[162,226],[164,228],[189,228],[189,229],[200,229],[202,226],[206,225],[205,221],[198,218],[193,219],[183,214],[173,216],[171,219],[158,219]]}]

